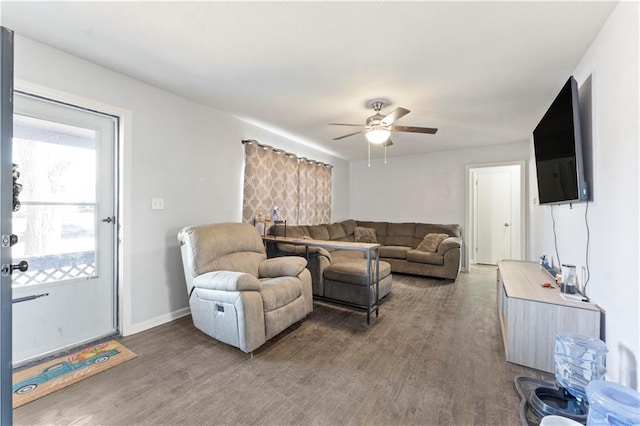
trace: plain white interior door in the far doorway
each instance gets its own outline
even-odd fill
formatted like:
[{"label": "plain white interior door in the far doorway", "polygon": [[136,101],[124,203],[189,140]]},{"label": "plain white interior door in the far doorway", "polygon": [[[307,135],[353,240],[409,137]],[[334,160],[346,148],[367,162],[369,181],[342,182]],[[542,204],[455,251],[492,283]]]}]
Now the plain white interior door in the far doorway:
[{"label": "plain white interior door in the far doorway", "polygon": [[495,265],[511,259],[511,173],[481,171],[476,175],[476,262]]}]

